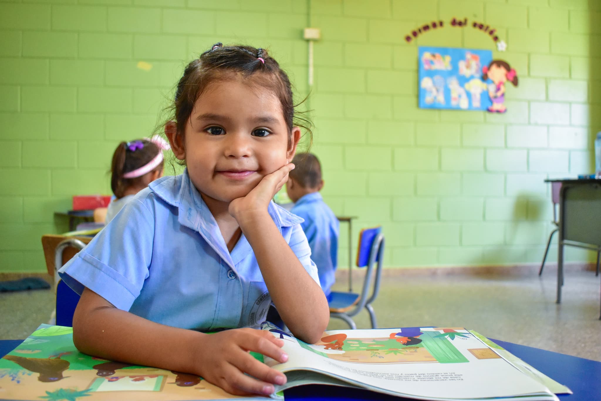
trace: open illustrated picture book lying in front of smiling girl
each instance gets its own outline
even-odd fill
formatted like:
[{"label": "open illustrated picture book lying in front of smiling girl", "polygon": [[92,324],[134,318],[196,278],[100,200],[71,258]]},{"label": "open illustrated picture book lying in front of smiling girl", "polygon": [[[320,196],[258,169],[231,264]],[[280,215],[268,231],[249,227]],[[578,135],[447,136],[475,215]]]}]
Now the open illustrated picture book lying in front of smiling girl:
[{"label": "open illustrated picture book lying in front of smiling girl", "polygon": [[[462,328],[326,331],[316,344],[297,340],[267,322],[263,329],[282,338],[288,354],[284,364],[254,355],[288,378],[274,398],[282,397],[282,390],[304,384],[441,401],[557,400],[554,393],[570,393],[506,350]],[[41,325],[0,359],[0,399],[5,400],[236,398],[241,397],[199,376],[81,354],[73,345],[70,327]]]}]

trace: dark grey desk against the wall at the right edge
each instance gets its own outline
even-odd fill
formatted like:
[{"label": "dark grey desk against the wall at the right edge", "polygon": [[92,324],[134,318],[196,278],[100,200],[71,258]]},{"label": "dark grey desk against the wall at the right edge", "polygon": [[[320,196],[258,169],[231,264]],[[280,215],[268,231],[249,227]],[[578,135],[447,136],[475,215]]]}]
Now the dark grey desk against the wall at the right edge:
[{"label": "dark grey desk against the wall at the right edge", "polygon": [[557,239],[556,302],[559,304],[561,286],[564,284],[564,246],[577,246],[596,252],[601,249],[601,180],[559,179],[545,182],[561,182]]}]

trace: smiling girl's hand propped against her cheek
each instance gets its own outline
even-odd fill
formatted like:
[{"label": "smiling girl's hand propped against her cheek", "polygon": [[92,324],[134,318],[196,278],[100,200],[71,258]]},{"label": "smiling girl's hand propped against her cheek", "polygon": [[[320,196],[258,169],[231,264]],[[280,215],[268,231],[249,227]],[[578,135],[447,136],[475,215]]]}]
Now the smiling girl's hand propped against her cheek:
[{"label": "smiling girl's hand propped against her cheek", "polygon": [[294,169],[294,165],[288,163],[284,167],[267,174],[263,179],[248,192],[248,195],[242,198],[234,199],[230,202],[230,215],[240,224],[240,221],[246,216],[254,216],[259,213],[267,212],[267,205],[273,196],[282,189],[282,186],[288,180],[288,173]]}]

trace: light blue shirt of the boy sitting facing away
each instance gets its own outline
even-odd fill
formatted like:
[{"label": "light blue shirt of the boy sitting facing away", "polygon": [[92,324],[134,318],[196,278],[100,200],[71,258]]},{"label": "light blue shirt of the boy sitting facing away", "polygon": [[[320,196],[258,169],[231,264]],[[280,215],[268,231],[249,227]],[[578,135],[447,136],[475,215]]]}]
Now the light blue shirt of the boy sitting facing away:
[{"label": "light blue shirt of the boy sitting facing away", "polygon": [[336,280],[334,273],[338,267],[340,222],[319,192],[301,197],[290,212],[305,220],[301,227],[309,240],[311,259],[317,265],[323,292],[329,295]]}]

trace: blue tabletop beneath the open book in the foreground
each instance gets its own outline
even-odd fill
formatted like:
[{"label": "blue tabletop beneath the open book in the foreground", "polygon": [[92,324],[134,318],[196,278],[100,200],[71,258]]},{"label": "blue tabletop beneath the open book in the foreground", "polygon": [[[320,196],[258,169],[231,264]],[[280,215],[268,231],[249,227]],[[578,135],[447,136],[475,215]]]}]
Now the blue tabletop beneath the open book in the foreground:
[{"label": "blue tabletop beneath the open book in the foreground", "polygon": [[[0,340],[0,356],[8,354],[22,341]],[[593,401],[601,399],[601,362],[570,357],[569,355],[508,343],[507,341],[493,341],[507,349],[511,354],[516,355],[516,357],[521,358],[526,363],[540,370],[540,372],[569,387],[573,391],[573,394],[560,394],[559,398],[561,401]],[[567,338],[566,346],[570,346],[570,340]],[[305,385],[291,388],[285,391],[284,396],[286,401],[406,400],[367,390],[326,385]]]}]

